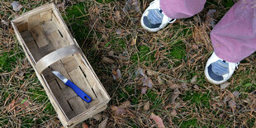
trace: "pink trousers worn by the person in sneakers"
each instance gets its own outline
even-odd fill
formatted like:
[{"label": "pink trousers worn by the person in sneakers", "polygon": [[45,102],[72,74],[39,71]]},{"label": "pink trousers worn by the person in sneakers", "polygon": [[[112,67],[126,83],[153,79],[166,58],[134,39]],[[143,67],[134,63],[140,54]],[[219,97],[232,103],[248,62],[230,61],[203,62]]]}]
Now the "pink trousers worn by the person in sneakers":
[{"label": "pink trousers worn by the person in sneakers", "polygon": [[[201,12],[206,0],[160,0],[170,18],[187,18]],[[256,51],[256,0],[240,0],[211,31],[211,42],[220,59],[237,63]]]}]

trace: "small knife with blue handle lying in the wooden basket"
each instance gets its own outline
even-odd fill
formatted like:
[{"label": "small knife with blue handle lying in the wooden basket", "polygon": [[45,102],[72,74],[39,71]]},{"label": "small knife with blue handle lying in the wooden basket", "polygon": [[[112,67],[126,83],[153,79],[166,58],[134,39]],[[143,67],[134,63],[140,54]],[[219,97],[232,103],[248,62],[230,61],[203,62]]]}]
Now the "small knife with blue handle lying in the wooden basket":
[{"label": "small knife with blue handle lying in the wooden basket", "polygon": [[78,94],[79,97],[83,99],[85,102],[91,102],[92,98],[88,96],[85,92],[83,92],[78,86],[72,83],[68,78],[65,78],[63,74],[59,73],[58,71],[52,71],[57,78],[59,78],[65,85],[69,86],[73,89],[74,92]]}]

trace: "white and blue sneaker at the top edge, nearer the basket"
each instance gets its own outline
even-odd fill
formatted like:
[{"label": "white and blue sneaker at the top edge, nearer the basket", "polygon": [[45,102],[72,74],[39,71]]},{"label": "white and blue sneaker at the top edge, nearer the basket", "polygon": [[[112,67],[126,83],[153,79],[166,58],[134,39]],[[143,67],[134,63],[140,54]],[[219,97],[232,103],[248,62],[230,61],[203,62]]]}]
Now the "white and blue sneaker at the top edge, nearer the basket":
[{"label": "white and blue sneaker at the top edge, nearer the basket", "polygon": [[155,32],[174,21],[176,21],[176,19],[168,18],[164,15],[164,12],[160,9],[159,0],[154,0],[143,13],[140,23],[147,31]]}]

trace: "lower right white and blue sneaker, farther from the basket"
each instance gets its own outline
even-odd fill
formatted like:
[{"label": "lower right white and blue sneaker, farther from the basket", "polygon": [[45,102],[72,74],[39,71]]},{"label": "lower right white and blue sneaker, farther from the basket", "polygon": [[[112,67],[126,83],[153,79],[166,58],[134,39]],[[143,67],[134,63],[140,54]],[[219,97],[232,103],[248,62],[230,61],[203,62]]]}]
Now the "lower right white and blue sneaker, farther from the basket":
[{"label": "lower right white and blue sneaker, farther from the basket", "polygon": [[220,59],[213,52],[210,59],[208,59],[205,68],[206,79],[210,83],[221,84],[225,83],[235,72],[239,63],[230,63]]}]

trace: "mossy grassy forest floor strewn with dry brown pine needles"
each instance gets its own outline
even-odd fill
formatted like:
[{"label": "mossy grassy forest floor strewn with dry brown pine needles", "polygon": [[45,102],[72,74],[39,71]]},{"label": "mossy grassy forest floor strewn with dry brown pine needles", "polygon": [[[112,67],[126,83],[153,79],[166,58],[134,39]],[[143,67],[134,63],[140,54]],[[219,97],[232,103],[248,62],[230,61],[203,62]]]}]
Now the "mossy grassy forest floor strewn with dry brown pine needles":
[{"label": "mossy grassy forest floor strewn with dry brown pine needles", "polygon": [[[21,15],[45,2],[49,1],[22,1],[21,4],[31,7],[23,7],[16,14]],[[0,8],[1,18],[12,20],[16,15],[10,6],[12,2],[0,3],[4,8]],[[232,0],[207,1],[205,9],[196,16],[201,21],[195,17],[179,20],[156,33],[140,26],[143,7],[149,5],[149,1],[140,1],[140,12],[128,13],[122,11],[126,1],[116,0],[69,1],[64,8],[59,7],[73,37],[110,94],[109,106],[130,101],[125,115],[116,116],[110,107],[102,112],[103,117],[109,117],[107,127],[151,127],[154,125],[149,118],[151,113],[161,117],[166,127],[255,127],[255,97],[250,93],[256,90],[256,55],[241,62],[229,80],[231,85],[225,89],[208,83],[203,73],[212,50],[208,41],[212,28],[205,25],[206,13],[216,9],[215,18],[219,21],[234,3]],[[18,45],[12,27],[0,25],[0,29],[3,31],[0,34],[0,127],[60,127],[55,110]],[[110,51],[126,59],[108,55]],[[104,62],[103,57],[114,63]],[[113,67],[121,70],[120,80],[112,78]],[[145,94],[141,94],[142,77],[135,73],[139,67],[154,84]],[[190,83],[196,75],[197,81]],[[174,84],[178,85],[179,94],[173,102],[171,87]],[[240,95],[233,99],[235,91]],[[225,102],[225,99],[228,100]],[[235,101],[235,111],[230,108],[230,99]],[[146,102],[149,102],[147,111],[144,110]],[[173,110],[177,115],[171,113]],[[97,127],[101,121],[91,118],[84,123]]]}]

